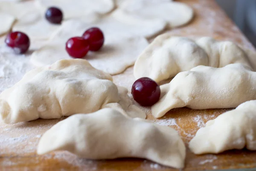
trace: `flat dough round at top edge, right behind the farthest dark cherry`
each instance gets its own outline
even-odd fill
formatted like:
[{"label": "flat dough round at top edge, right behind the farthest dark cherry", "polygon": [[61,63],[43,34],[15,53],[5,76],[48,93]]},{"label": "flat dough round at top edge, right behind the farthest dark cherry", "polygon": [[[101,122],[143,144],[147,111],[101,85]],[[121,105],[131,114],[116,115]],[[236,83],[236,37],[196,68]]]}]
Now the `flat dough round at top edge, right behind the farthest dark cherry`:
[{"label": "flat dough round at top edge, right behind the farthest dark cherry", "polygon": [[57,6],[62,10],[64,19],[106,14],[115,7],[113,0],[36,0],[35,2],[42,14],[45,14],[50,6]]}]

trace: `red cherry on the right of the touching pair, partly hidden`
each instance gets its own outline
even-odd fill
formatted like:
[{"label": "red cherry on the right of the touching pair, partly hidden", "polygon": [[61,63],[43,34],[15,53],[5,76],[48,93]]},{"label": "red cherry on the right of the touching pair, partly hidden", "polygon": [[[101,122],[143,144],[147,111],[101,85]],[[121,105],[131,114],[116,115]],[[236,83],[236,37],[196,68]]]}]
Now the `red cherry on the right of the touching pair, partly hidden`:
[{"label": "red cherry on the right of the touching pair, partly hidden", "polygon": [[83,38],[90,42],[90,51],[98,51],[104,43],[104,35],[101,29],[97,27],[87,29],[83,34]]}]

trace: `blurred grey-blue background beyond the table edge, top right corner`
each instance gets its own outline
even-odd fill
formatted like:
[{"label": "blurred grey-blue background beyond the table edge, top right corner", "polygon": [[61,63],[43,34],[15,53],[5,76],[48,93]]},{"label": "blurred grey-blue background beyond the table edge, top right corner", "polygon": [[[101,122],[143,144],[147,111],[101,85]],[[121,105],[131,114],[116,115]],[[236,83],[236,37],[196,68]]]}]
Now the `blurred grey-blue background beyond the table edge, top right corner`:
[{"label": "blurred grey-blue background beyond the table edge, top right corner", "polygon": [[256,46],[256,0],[216,0]]}]

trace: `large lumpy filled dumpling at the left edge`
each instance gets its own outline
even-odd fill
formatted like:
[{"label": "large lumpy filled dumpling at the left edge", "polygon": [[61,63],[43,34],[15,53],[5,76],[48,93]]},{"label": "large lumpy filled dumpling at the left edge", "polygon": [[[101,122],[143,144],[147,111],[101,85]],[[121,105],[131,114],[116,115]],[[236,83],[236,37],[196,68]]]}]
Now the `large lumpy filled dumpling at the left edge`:
[{"label": "large lumpy filled dumpling at the left edge", "polygon": [[[76,113],[91,113],[104,107],[114,107],[145,113],[129,101],[120,101],[119,93],[111,75],[96,70],[83,59],[60,60],[51,66],[27,72],[23,79],[0,94],[0,119],[7,124],[31,121],[38,118],[54,119]],[[126,90],[126,93],[128,91]],[[118,104],[119,103],[119,104]],[[123,108],[122,108],[123,107]]]}]

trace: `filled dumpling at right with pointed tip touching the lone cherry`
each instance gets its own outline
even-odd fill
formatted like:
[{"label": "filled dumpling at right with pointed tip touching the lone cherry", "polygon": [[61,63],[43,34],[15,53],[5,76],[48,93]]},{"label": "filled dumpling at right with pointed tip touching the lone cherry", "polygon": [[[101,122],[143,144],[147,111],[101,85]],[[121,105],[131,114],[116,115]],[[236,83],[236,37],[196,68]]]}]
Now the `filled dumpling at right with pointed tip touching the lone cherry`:
[{"label": "filled dumpling at right with pointed tip touching the lone cherry", "polygon": [[152,114],[159,118],[177,107],[191,109],[235,108],[255,100],[256,72],[243,64],[223,68],[198,66],[180,72],[169,84],[160,86],[161,98]]}]

